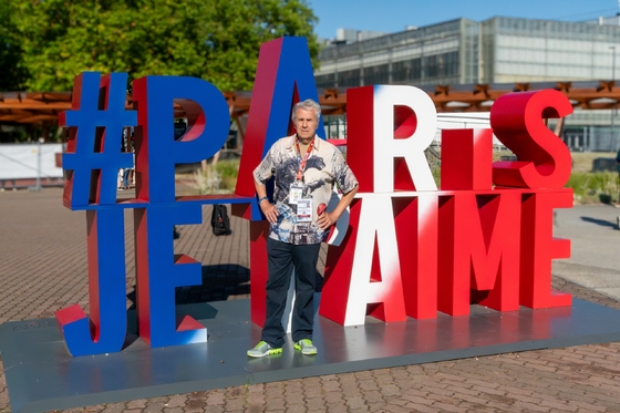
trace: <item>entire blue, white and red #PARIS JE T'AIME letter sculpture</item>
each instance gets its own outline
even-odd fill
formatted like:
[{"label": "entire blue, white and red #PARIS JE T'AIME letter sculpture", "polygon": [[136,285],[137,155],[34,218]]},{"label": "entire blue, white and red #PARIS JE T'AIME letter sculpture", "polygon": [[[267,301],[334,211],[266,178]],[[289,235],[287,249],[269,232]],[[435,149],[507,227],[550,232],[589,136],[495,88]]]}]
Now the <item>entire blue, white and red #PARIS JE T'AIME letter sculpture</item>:
[{"label": "entire blue, white and red #PARIS JE T'AIME letter sculpture", "polygon": [[[56,312],[73,355],[120,351],[126,335],[124,211],[134,209],[140,337],[151,347],[206,341],[206,328],[175,316],[175,287],[200,282],[200,264],[175,255],[173,226],[199,224],[202,206],[232,204],[250,225],[250,311],[265,322],[266,237],[252,169],[278,138],[292,133],[292,105],[318,100],[306,41],[262,45],[232,196],[176,197],[175,165],[213,156],[225,143],[229,112],[211,84],[190,78],[134,82],[137,110],[125,107],[125,73],[75,79],[63,166],[64,205],[86,211],[90,318],[75,304]],[[175,141],[175,105],[188,123]],[[556,91],[510,93],[492,107],[492,130],[443,131],[441,188],[425,149],[436,112],[413,86],[373,85],[348,92],[348,162],[360,182],[349,228],[330,245],[320,314],[343,326],[366,316],[385,322],[466,316],[478,303],[497,311],[570,306],[551,291],[550,265],[570,254],[552,237],[554,208],[571,206],[570,154],[544,118],[570,114]],[[135,127],[136,198],[117,202],[124,127]],[[324,137],[322,123],[319,135]],[[493,134],[518,161],[492,162]],[[347,220],[343,220],[347,223]]]}]

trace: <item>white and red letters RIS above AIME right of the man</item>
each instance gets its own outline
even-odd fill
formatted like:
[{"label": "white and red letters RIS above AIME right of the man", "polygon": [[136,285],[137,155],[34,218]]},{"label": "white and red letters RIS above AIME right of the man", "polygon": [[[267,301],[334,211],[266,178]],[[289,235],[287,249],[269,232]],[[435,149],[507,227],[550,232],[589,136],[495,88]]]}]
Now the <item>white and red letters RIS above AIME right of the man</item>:
[{"label": "white and red letters RIS above AIME right of the man", "polygon": [[552,209],[570,207],[570,155],[544,124],[572,112],[565,95],[512,93],[492,107],[495,134],[518,162],[492,164],[490,130],[444,131],[438,192],[424,157],[435,134],[431,99],[412,86],[365,86],[348,100],[360,193],[347,242],[329,249],[322,316],[351,326],[368,314],[466,316],[471,303],[570,306],[550,289],[551,259],[570,250],[551,234]]}]

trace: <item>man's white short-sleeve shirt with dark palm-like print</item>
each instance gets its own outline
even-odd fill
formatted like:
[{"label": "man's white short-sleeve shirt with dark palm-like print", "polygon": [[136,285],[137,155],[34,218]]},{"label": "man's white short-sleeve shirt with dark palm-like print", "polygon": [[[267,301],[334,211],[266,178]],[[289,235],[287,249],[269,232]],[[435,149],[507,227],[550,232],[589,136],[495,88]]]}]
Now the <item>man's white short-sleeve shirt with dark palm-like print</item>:
[{"label": "man's white short-sleeve shirt with dark palm-like print", "polygon": [[294,245],[318,244],[322,242],[328,234],[317,225],[317,209],[329,204],[334,185],[347,194],[355,188],[358,179],[344,162],[342,153],[334,145],[314,135],[314,145],[302,178],[303,197],[312,198],[312,221],[298,223],[297,205],[289,203],[290,186],[296,183],[301,165],[296,140],[296,135],[291,135],[276,142],[254,171],[254,178],[257,183],[266,185],[267,180],[275,176],[273,203],[280,215],[278,221],[271,224],[269,237]]}]

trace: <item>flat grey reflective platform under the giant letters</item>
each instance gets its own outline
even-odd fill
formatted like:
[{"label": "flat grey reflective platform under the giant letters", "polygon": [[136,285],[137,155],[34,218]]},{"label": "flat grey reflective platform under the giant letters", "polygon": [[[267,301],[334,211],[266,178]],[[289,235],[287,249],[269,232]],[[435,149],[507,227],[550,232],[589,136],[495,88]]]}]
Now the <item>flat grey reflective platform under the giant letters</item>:
[{"label": "flat grey reflective platform under the giant letters", "polygon": [[[179,306],[208,329],[208,342],[149,349],[135,335],[120,353],[72,358],[54,319],[0,326],[0,351],[11,407],[41,412],[230,385],[280,381],[524,350],[620,341],[620,311],[574,299],[571,308],[499,313],[472,307],[472,317],[371,321],[342,327],[317,317],[319,354],[288,342],[282,354],[248,359],[260,340],[249,301]],[[290,341],[290,337],[289,337]]]}]

